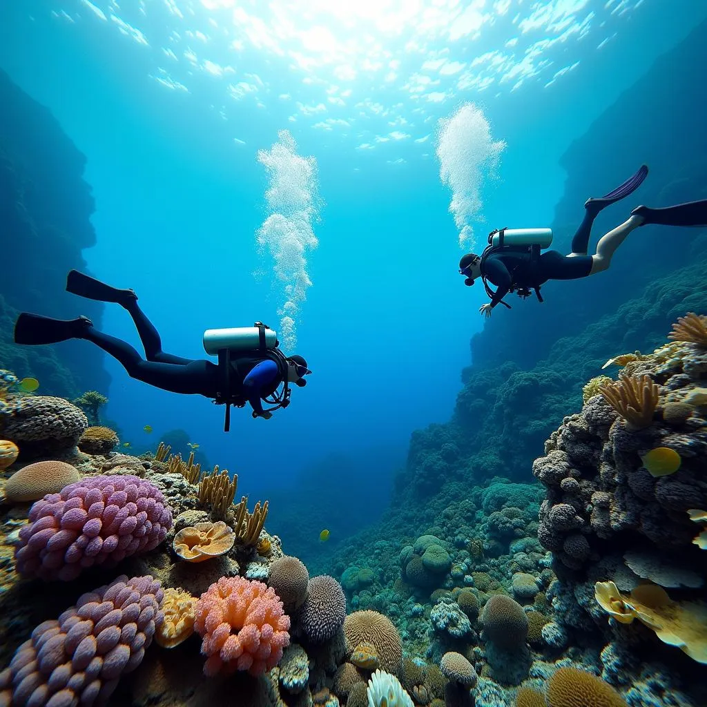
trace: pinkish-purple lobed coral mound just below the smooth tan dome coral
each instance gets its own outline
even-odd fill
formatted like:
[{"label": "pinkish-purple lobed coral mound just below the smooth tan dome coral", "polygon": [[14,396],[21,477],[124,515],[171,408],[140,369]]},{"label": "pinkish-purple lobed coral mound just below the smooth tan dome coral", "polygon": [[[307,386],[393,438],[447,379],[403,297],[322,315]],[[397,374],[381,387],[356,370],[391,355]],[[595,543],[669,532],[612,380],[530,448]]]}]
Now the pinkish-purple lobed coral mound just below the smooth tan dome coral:
[{"label": "pinkish-purple lobed coral mound just below the smooth tan dome coral", "polygon": [[71,580],[157,547],[172,527],[162,492],[133,476],[100,476],[47,493],[30,508],[15,551],[18,572]]}]

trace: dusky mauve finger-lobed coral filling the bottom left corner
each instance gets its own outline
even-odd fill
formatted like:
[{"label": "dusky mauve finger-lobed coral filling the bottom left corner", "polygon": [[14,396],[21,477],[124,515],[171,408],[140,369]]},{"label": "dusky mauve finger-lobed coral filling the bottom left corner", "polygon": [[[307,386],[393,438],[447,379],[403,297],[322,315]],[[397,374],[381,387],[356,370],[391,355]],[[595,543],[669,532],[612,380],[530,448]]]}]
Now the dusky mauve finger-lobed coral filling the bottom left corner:
[{"label": "dusky mauve finger-lobed coral filling the bottom left corner", "polygon": [[151,576],[121,576],[79,597],[32,632],[0,672],[0,704],[69,707],[105,703],[119,677],[140,665],[163,621]]}]

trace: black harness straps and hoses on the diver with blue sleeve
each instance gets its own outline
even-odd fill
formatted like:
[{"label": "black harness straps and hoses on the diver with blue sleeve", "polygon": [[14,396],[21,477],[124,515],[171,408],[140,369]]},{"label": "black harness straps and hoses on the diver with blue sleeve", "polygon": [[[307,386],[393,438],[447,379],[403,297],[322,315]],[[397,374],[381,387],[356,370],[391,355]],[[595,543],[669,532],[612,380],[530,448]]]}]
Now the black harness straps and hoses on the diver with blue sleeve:
[{"label": "black harness straps and hoses on the diver with blue sleeve", "polygon": [[273,406],[264,410],[264,412],[272,412],[274,410],[279,410],[281,407],[287,407],[290,404],[290,395],[292,391],[288,385],[287,380],[287,358],[285,354],[278,348],[278,342],[275,343],[274,349],[268,349],[265,343],[265,329],[269,328],[262,322],[255,322],[259,334],[259,344],[257,349],[252,349],[250,351],[236,351],[235,356],[232,358],[234,352],[230,349],[218,349],[218,390],[216,392],[216,399],[214,400],[215,405],[226,405],[226,416],[223,421],[223,431],[230,431],[230,406],[235,405],[235,407],[245,407],[248,402],[247,398],[241,395],[234,395],[230,392],[231,383],[231,367],[235,368],[235,372],[239,375],[241,380],[245,379],[245,373],[242,377],[240,376],[240,371],[238,370],[238,359],[247,359],[252,361],[253,358],[258,358],[261,361],[269,359],[277,364],[278,374],[282,378],[282,389],[279,390],[280,384],[274,392],[272,392],[267,397],[264,397],[264,401],[267,404]]}]

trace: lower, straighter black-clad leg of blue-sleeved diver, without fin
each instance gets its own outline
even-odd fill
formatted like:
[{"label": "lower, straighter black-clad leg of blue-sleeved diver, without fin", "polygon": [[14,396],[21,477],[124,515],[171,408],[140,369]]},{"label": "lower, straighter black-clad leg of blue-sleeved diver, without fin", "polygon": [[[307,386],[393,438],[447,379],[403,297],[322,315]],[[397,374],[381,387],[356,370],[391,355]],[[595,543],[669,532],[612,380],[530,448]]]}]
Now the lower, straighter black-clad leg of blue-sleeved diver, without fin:
[{"label": "lower, straighter black-clad leg of blue-sleeved diver, without fin", "polygon": [[184,365],[144,361],[140,354],[121,339],[86,327],[81,339],[92,341],[110,354],[127,371],[130,378],[184,395],[205,395],[216,397],[216,365],[210,361],[187,361]]}]

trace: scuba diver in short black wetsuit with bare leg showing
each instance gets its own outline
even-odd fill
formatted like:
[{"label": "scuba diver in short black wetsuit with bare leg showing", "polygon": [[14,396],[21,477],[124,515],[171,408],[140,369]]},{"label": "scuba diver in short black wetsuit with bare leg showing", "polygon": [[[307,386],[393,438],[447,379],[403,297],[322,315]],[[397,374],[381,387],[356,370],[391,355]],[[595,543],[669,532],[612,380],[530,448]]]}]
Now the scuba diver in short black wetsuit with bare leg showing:
[{"label": "scuba diver in short black wetsuit with bare leg showing", "polygon": [[[707,226],[707,200],[691,201],[687,204],[650,209],[638,206],[620,226],[600,238],[594,255],[587,255],[592,224],[600,211],[616,201],[625,199],[638,189],[648,175],[648,167],[641,168],[633,177],[609,194],[599,199],[588,199],[584,205],[585,215],[572,239],[572,252],[563,255],[558,250],[546,250],[552,242],[549,228],[523,228],[510,230],[501,228],[489,233],[489,245],[481,255],[467,253],[459,262],[459,272],[466,279],[465,285],[473,285],[481,278],[491,302],[481,305],[479,312],[486,317],[503,301],[509,292],[517,292],[522,298],[534,291],[538,300],[540,286],[548,280],[575,280],[595,275],[609,268],[612,256],[632,230],[648,223],[665,226]],[[496,285],[494,292],[489,286]]]}]

